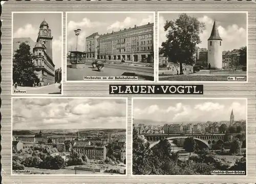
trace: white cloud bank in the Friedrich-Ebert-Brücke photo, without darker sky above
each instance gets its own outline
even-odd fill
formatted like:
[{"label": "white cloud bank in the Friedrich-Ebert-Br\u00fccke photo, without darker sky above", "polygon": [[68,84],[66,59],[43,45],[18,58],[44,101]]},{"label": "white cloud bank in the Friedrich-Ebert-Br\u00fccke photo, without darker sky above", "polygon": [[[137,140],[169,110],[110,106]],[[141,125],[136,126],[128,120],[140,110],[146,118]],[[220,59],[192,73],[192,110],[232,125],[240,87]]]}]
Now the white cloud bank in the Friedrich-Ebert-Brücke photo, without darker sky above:
[{"label": "white cloud bank in the Friedrich-Ebert-Br\u00fccke photo, without darker sky above", "polygon": [[[203,103],[187,104],[176,103],[170,106],[161,105],[162,102],[155,102],[153,105],[144,107],[134,102],[135,119],[146,119],[161,122],[206,122],[206,121],[226,121],[229,120],[231,110],[235,114],[235,119],[246,119],[246,105],[240,102],[221,103],[206,101]],[[172,103],[172,102],[170,102]]]}]

